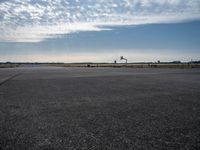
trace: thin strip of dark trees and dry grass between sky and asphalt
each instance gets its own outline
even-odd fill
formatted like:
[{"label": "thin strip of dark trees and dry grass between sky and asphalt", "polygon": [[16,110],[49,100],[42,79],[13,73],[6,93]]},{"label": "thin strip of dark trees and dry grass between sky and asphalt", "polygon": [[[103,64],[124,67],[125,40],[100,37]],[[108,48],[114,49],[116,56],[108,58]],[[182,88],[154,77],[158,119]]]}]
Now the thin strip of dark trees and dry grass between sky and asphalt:
[{"label": "thin strip of dark trees and dry grass between sky and asphalt", "polygon": [[60,63],[60,62],[0,62],[0,68],[12,68],[19,66],[55,66],[55,67],[115,67],[115,68],[200,68],[200,61],[172,61],[172,62],[138,62],[138,63]]}]

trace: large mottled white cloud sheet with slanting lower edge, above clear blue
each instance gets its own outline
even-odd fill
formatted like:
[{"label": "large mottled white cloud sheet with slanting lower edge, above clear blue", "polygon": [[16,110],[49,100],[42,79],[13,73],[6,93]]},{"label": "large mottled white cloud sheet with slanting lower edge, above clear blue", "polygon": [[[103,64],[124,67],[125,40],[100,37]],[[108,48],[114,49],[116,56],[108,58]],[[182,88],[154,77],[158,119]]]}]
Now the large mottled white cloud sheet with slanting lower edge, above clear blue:
[{"label": "large mottled white cloud sheet with slanting lower edge, above clear blue", "polygon": [[0,41],[40,42],[115,25],[196,19],[200,0],[0,0]]}]

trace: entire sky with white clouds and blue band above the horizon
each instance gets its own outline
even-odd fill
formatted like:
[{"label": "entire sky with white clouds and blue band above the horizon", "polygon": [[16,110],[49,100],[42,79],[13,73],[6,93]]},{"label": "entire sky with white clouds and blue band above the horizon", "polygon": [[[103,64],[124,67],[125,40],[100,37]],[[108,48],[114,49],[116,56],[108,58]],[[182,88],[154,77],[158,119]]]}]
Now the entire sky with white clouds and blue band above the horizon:
[{"label": "entire sky with white clouds and blue band above the horizon", "polygon": [[200,0],[0,0],[0,62],[200,60]]}]

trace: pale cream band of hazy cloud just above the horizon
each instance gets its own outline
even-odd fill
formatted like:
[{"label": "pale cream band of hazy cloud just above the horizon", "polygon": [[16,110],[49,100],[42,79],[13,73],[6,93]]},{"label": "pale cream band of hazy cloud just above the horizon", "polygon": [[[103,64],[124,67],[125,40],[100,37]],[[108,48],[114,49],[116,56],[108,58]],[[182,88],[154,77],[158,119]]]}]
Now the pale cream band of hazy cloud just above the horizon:
[{"label": "pale cream band of hazy cloud just above the horizon", "polygon": [[[19,54],[19,55],[0,55],[2,62],[64,62],[64,63],[78,63],[78,62],[107,62],[113,63],[117,60],[118,63],[124,63],[120,60],[122,53],[67,53],[67,54]],[[192,53],[163,53],[158,52],[156,55],[152,52],[123,52],[123,56],[128,59],[128,62],[170,62],[180,60],[182,62],[188,62],[191,59],[199,60],[199,55]]]}]

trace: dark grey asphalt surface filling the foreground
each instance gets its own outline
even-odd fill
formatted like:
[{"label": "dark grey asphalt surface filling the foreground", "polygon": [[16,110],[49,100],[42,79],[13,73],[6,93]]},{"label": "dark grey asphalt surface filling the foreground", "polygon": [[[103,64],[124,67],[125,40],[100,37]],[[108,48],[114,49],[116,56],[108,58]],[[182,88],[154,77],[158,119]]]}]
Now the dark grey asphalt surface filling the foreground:
[{"label": "dark grey asphalt surface filling the foreground", "polygon": [[200,149],[200,69],[0,69],[0,149]]}]

